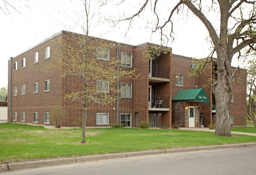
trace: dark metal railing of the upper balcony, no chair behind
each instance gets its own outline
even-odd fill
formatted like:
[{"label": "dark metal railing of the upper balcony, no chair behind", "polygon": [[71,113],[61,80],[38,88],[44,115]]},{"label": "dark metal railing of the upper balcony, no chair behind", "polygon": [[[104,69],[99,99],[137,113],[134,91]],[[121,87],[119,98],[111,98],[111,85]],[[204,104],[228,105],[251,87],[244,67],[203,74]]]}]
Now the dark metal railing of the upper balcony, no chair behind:
[{"label": "dark metal railing of the upper balcony, no chair behind", "polygon": [[169,67],[150,65],[148,75],[150,77],[169,78]]}]

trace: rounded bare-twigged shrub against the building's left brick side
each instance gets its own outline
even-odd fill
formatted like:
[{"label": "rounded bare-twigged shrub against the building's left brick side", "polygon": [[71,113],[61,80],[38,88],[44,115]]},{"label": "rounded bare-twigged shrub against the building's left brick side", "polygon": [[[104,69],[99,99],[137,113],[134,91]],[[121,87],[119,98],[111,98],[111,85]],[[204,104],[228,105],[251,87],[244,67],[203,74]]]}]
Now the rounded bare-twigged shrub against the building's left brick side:
[{"label": "rounded bare-twigged shrub against the building's left brick side", "polygon": [[60,128],[61,122],[63,118],[66,116],[67,116],[67,110],[61,107],[60,105],[58,105],[52,108],[52,110],[50,111],[49,118],[50,118],[50,121],[54,123],[54,126],[56,128]]}]

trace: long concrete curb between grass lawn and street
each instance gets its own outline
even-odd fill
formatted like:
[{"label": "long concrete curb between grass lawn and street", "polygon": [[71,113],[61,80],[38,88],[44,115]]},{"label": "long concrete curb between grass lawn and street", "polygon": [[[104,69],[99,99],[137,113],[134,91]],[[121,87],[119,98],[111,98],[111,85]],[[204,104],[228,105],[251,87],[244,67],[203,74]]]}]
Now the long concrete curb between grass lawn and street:
[{"label": "long concrete curb between grass lawn and street", "polygon": [[116,153],[116,154],[89,155],[89,156],[72,157],[72,158],[33,160],[28,162],[13,162],[8,164],[0,164],[0,172],[10,171],[10,170],[20,170],[20,169],[26,169],[26,168],[39,168],[39,167],[45,167],[45,166],[74,164],[74,163],[89,162],[89,161],[96,161],[96,160],[137,157],[137,156],[144,156],[144,155],[158,155],[158,154],[166,154],[166,153],[182,153],[182,152],[190,152],[190,151],[243,148],[243,147],[254,147],[254,146],[256,146],[256,142],[241,143],[241,144],[213,145],[213,146],[198,146],[198,147],[188,147],[188,148],[161,149],[161,150],[150,150],[150,151],[136,151],[136,152]]}]

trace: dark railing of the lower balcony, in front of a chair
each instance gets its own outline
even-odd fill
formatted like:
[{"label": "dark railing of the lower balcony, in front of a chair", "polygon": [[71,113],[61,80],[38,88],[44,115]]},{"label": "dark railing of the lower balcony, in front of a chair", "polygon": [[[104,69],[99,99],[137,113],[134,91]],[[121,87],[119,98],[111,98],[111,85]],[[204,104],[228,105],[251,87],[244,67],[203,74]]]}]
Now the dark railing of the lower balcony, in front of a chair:
[{"label": "dark railing of the lower balcony, in front of a chair", "polygon": [[151,108],[169,108],[169,97],[148,95],[148,106]]}]

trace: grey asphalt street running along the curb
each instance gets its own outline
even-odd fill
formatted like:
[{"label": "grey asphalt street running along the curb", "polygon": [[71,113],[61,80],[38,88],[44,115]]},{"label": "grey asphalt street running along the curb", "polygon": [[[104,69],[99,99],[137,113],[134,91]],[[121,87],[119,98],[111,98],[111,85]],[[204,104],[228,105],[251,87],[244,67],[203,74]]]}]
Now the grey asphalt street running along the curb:
[{"label": "grey asphalt street running along the curb", "polygon": [[4,172],[4,175],[252,175],[256,147],[99,160]]}]

